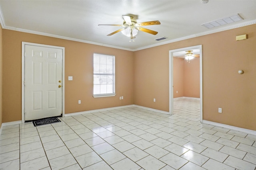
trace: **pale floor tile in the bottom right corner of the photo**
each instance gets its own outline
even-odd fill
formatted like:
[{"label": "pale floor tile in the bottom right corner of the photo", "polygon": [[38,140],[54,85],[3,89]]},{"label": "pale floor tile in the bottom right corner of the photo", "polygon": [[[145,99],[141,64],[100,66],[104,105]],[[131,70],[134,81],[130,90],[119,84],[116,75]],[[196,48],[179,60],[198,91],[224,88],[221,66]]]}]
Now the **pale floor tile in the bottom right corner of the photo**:
[{"label": "pale floor tile in the bottom right corner of the photo", "polygon": [[223,163],[239,170],[254,170],[256,168],[255,164],[235,158],[233,156],[228,156]]}]

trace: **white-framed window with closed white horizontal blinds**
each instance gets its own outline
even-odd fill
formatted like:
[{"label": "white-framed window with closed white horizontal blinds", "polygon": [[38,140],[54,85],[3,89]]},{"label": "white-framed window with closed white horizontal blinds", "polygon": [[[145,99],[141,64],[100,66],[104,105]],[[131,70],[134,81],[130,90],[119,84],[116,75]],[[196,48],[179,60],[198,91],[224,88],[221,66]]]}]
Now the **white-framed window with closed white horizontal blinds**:
[{"label": "white-framed window with closed white horizontal blinds", "polygon": [[115,96],[115,56],[93,54],[93,96]]}]

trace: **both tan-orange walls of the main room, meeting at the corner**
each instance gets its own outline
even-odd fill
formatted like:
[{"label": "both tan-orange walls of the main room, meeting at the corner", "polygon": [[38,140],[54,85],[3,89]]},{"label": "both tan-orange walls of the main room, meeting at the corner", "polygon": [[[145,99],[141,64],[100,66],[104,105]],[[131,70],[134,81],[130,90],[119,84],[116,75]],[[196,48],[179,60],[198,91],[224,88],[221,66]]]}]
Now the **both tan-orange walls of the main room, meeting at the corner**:
[{"label": "both tan-orange walls of the main room, meeting at the corner", "polygon": [[[236,41],[243,34],[248,39]],[[202,44],[203,119],[256,130],[256,24],[135,52],[6,29],[2,35],[3,122],[21,120],[22,41],[65,47],[66,113],[129,104],[169,111],[169,50]],[[116,97],[92,97],[94,52],[116,56]]]}]

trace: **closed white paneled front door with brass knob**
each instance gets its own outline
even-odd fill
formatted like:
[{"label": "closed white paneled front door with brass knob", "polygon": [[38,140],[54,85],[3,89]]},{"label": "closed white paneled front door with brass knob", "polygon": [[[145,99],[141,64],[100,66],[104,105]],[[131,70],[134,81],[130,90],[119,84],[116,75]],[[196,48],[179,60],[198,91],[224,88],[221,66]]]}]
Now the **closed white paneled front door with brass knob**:
[{"label": "closed white paneled front door with brass knob", "polygon": [[25,121],[62,114],[62,49],[25,45]]}]

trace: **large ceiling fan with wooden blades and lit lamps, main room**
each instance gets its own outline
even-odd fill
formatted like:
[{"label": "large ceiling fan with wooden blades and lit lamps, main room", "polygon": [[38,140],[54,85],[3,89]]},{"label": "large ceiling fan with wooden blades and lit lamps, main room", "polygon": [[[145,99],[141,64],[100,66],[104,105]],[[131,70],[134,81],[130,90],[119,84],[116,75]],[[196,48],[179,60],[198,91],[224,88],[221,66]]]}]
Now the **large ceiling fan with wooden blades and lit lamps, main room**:
[{"label": "large ceiling fan with wooden blades and lit lamps, main room", "polygon": [[158,32],[153,31],[151,29],[146,29],[141,26],[148,26],[148,25],[159,25],[160,21],[147,21],[147,22],[141,22],[137,23],[136,20],[133,19],[132,16],[126,16],[122,15],[124,18],[123,25],[112,25],[112,24],[99,24],[98,26],[119,26],[122,27],[121,29],[118,29],[107,36],[113,35],[118,32],[122,32],[122,34],[126,35],[127,37],[130,37],[130,39],[134,39],[135,36],[138,34],[138,31],[144,31],[146,33],[150,33],[153,35],[156,35]]}]

